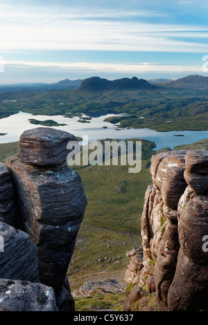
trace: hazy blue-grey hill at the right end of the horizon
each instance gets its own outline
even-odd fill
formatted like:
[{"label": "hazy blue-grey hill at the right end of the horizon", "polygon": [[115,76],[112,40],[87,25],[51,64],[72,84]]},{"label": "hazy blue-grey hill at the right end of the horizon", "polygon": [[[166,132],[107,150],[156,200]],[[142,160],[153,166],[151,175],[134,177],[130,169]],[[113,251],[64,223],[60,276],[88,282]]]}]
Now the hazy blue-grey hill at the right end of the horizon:
[{"label": "hazy blue-grey hill at the right end of the horizon", "polygon": [[177,80],[169,82],[155,82],[166,88],[177,89],[208,89],[208,77],[202,77],[202,75],[188,75]]}]

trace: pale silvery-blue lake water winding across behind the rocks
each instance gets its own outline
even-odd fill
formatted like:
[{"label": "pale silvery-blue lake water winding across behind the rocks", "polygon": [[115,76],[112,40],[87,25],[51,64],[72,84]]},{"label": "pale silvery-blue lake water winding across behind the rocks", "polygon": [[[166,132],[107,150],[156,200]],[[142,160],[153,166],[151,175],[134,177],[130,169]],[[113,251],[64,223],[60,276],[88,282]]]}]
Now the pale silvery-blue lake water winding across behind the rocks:
[{"label": "pale silvery-blue lake water winding across behind the rocks", "polygon": [[[25,130],[41,127],[40,125],[31,124],[28,120],[35,118],[36,120],[54,120],[58,123],[67,124],[66,126],[54,127],[75,136],[88,136],[89,141],[100,140],[105,138],[112,139],[132,139],[141,138],[154,141],[155,149],[169,147],[173,149],[176,145],[188,145],[192,142],[208,138],[207,131],[168,131],[159,132],[151,129],[119,129],[116,124],[104,122],[105,118],[114,116],[115,114],[107,114],[98,118],[92,118],[89,123],[80,123],[80,118],[65,118],[63,115],[32,115],[30,113],[19,112],[10,115],[8,118],[0,119],[0,133],[7,133],[5,136],[0,136],[0,143],[15,142],[19,140],[19,136]],[[123,114],[120,114],[123,115]],[[83,117],[86,115],[83,114]],[[107,128],[103,128],[107,127]],[[180,135],[180,136],[178,136]],[[181,136],[183,135],[183,136]]]}]

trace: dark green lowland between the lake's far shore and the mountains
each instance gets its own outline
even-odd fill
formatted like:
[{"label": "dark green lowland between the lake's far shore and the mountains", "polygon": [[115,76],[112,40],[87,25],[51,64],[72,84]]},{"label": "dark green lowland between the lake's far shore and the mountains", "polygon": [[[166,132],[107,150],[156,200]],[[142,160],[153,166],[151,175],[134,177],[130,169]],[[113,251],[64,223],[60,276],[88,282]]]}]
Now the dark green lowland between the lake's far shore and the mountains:
[{"label": "dark green lowland between the lake's far shore and the mountains", "polygon": [[127,115],[107,120],[119,122],[119,127],[148,127],[156,131],[207,130],[208,94],[205,89],[28,91],[1,93],[0,100],[0,118],[19,111],[68,117],[78,113],[92,117],[125,113]]}]

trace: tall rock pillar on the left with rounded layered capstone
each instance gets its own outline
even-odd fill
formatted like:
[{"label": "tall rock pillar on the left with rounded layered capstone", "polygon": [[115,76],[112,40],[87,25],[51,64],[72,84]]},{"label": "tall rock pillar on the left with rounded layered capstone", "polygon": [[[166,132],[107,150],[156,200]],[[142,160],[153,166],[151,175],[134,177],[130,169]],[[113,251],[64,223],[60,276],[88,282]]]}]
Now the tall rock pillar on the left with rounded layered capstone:
[{"label": "tall rock pillar on the left with rounded layered capstone", "polygon": [[80,176],[65,165],[67,144],[75,140],[51,128],[25,131],[17,156],[3,167],[15,191],[21,230],[37,248],[40,282],[55,291],[58,310],[74,308],[67,270],[87,205]]}]

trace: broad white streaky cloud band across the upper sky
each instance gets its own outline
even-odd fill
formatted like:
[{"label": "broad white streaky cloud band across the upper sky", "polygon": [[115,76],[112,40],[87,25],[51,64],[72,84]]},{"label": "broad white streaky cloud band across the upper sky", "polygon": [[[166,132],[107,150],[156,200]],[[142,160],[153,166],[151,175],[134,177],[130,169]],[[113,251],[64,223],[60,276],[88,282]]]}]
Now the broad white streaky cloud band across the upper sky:
[{"label": "broad white streaky cloud band across the upper sky", "polygon": [[[207,26],[150,24],[141,18],[164,15],[154,10],[0,6],[1,50],[139,50],[208,52]],[[191,41],[198,37],[198,41]],[[177,38],[177,39],[176,39]],[[0,53],[1,54],[1,53]]]}]

